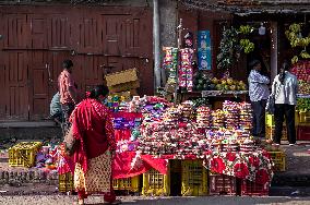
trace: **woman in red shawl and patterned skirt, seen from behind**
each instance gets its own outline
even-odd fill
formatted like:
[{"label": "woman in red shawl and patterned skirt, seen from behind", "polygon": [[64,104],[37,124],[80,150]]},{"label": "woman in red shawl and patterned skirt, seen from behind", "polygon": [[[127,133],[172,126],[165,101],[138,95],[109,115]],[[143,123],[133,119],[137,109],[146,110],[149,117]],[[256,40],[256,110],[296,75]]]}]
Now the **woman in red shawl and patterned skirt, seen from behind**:
[{"label": "woman in red shawl and patterned skirt, seen from behind", "polygon": [[74,188],[79,205],[92,193],[105,194],[105,201],[116,203],[111,183],[111,161],[116,149],[111,114],[102,101],[108,95],[107,86],[98,85],[81,101],[71,116],[75,140]]}]

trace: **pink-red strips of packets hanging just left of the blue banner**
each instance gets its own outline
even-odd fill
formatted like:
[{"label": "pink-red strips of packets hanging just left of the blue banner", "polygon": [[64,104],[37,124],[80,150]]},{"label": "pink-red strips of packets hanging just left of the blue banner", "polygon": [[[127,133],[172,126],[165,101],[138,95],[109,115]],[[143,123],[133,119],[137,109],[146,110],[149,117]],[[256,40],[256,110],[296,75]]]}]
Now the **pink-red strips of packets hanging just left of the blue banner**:
[{"label": "pink-red strips of packets hanging just left of the blue banner", "polygon": [[184,48],[180,50],[181,64],[179,68],[179,87],[192,92],[193,89],[193,49]]}]

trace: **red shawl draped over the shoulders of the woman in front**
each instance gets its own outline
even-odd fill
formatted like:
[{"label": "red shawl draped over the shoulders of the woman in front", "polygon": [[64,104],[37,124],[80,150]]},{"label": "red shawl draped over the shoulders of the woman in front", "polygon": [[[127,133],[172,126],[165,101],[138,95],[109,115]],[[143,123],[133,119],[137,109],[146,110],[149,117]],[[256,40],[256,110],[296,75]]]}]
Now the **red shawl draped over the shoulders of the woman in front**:
[{"label": "red shawl draped over the shoulders of the woman in front", "polygon": [[73,154],[74,165],[87,171],[87,160],[98,157],[108,148],[116,149],[115,131],[108,108],[96,99],[84,99],[73,110],[70,119],[73,136],[78,141]]}]

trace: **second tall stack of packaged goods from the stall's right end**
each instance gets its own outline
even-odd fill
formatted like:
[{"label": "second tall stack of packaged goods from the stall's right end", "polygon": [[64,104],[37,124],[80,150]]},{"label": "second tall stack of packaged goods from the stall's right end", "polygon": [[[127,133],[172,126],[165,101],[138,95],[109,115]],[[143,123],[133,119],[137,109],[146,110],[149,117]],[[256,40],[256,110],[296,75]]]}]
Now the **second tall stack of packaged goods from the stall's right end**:
[{"label": "second tall stack of packaged goods from the stall's right end", "polygon": [[223,110],[226,117],[226,128],[237,129],[239,126],[239,104],[235,101],[225,100],[223,102]]}]

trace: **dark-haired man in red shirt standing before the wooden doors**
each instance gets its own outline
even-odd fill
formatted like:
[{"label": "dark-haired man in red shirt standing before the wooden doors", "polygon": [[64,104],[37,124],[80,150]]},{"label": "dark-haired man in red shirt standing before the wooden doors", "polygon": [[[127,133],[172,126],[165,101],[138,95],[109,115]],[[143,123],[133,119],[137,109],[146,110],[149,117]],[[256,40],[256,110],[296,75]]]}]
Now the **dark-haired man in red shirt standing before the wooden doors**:
[{"label": "dark-haired man in red shirt standing before the wooden doors", "polygon": [[67,133],[70,126],[69,117],[74,109],[74,105],[78,102],[78,92],[72,79],[73,62],[71,60],[64,60],[62,62],[62,68],[63,70],[58,77],[58,87],[62,109],[62,130],[63,133]]}]

